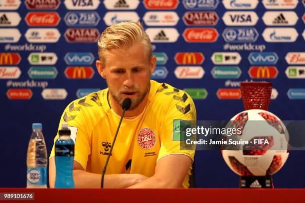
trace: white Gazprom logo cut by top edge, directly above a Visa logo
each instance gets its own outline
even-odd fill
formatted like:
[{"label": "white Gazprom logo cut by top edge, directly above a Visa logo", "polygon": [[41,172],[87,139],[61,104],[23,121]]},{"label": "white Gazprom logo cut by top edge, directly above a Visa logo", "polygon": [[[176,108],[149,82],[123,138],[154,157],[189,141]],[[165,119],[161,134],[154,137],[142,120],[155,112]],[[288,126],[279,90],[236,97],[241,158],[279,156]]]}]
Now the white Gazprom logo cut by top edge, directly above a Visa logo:
[{"label": "white Gazprom logo cut by top edge, directly above a Visa logo", "polygon": [[223,5],[227,9],[255,9],[258,0],[223,0]]}]

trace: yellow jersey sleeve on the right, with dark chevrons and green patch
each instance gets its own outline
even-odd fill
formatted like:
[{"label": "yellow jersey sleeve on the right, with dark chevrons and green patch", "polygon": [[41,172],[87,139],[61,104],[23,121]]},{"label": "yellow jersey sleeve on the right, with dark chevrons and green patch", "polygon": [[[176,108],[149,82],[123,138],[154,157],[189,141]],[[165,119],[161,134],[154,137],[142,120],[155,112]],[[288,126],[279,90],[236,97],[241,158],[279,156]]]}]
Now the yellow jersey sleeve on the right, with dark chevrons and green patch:
[{"label": "yellow jersey sleeve on the right, with dark chevrons and green patch", "polygon": [[193,126],[196,122],[194,102],[187,93],[181,90],[175,95],[168,95],[168,97],[172,97],[172,100],[167,106],[165,117],[160,128],[161,147],[157,160],[169,154],[185,154],[194,160],[194,147],[185,147],[185,142],[182,139],[184,136],[181,135],[180,137],[178,135],[177,137],[175,132],[177,130],[175,128],[177,126],[179,128],[179,125],[180,127],[184,125],[185,130],[185,126]]}]

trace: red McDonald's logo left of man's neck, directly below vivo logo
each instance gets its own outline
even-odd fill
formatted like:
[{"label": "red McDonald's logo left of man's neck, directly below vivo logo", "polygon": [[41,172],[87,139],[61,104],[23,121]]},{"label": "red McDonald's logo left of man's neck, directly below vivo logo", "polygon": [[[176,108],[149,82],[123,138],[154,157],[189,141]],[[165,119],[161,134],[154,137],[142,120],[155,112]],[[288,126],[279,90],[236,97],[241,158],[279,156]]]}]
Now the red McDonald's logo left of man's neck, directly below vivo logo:
[{"label": "red McDonald's logo left of man's neck, directly below vivo logo", "polygon": [[65,70],[65,76],[68,79],[91,79],[94,73],[90,66],[70,66]]}]

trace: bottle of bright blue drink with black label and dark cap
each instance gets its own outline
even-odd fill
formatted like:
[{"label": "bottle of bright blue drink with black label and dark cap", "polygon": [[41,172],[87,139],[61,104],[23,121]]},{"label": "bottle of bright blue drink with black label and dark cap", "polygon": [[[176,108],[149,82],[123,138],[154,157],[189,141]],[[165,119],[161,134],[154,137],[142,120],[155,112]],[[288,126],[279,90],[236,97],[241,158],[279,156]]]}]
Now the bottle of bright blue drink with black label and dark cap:
[{"label": "bottle of bright blue drink with black label and dark cap", "polygon": [[55,142],[56,179],[55,188],[74,188],[73,161],[74,141],[67,123],[62,123]]}]

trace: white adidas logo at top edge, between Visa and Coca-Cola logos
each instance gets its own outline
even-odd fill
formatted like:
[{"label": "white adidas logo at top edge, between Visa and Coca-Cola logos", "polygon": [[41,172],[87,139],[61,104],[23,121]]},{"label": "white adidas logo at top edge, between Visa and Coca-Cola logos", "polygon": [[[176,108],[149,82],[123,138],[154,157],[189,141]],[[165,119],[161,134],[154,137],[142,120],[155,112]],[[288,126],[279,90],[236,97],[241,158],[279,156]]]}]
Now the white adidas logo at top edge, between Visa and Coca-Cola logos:
[{"label": "white adidas logo at top edge, between Visa and Coca-Cola logos", "polygon": [[108,10],[134,10],[139,3],[139,0],[104,0],[104,5]]}]

